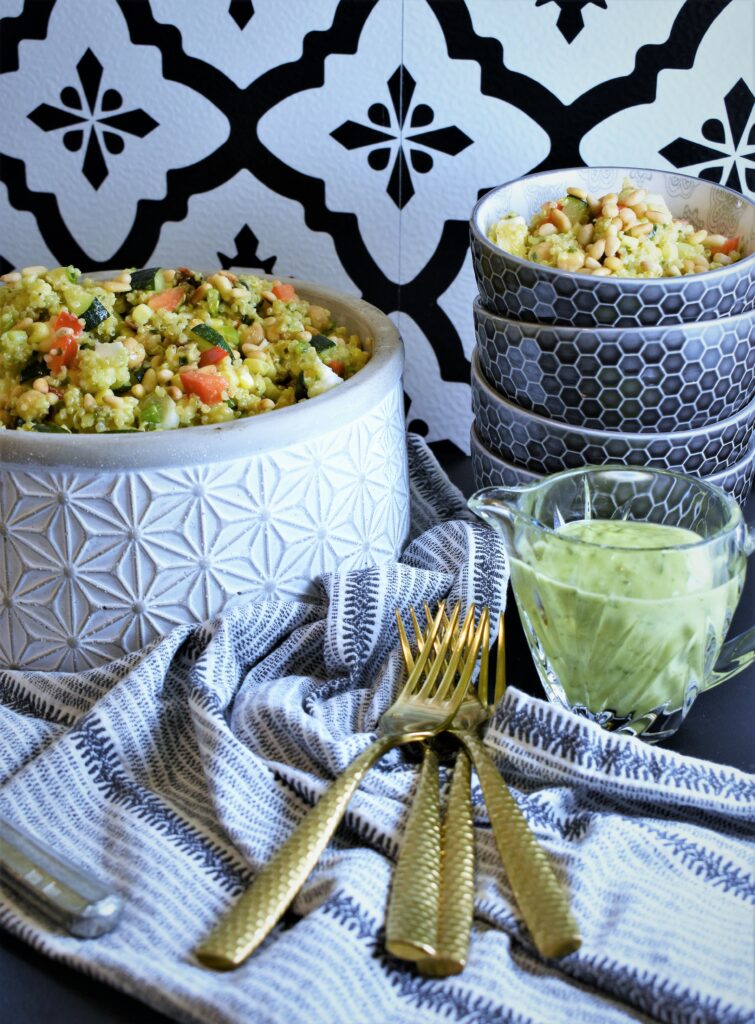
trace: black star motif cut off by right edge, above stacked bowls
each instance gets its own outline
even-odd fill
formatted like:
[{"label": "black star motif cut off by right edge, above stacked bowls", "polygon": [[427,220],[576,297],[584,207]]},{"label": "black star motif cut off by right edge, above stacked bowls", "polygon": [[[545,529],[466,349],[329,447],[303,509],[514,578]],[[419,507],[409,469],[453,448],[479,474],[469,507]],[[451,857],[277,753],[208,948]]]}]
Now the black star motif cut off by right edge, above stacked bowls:
[{"label": "black star motif cut off by right edge, above stacked bowls", "polygon": [[[699,164],[709,164],[698,171],[698,177],[708,181],[720,182],[723,178],[724,170],[730,161],[728,175],[725,184],[729,188],[742,191],[742,179],[738,160],[749,160],[755,163],[755,124],[752,124],[743,142],[743,136],[748,122],[750,121],[755,106],[755,97],[750,87],[740,79],[739,82],[726,93],[723,104],[726,109],[727,125],[724,125],[718,118],[709,118],[701,127],[700,132],[703,138],[709,142],[715,142],[721,148],[714,150],[703,142],[694,141],[688,138],[676,138],[673,142],[659,150],[662,157],[665,157],[674,167],[695,167]],[[741,153],[753,146],[751,153]],[[743,167],[747,187],[755,191],[755,169]]]}]

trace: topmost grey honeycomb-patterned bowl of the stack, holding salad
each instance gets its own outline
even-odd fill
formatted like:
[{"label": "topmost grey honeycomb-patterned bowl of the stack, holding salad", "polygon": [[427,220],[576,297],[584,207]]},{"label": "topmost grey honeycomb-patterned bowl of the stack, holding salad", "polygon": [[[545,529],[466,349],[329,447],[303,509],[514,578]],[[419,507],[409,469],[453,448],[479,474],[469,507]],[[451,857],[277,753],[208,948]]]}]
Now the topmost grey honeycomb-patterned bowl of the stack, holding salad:
[{"label": "topmost grey honeycomb-patterned bowl of the stack, holding salad", "polygon": [[[727,237],[749,253],[737,263],[681,278],[593,278],[512,256],[487,237],[506,213],[529,219],[569,186],[604,195],[632,181],[666,199],[676,217]],[[573,167],[529,174],[489,191],[470,221],[472,263],[484,302],[495,312],[541,324],[655,327],[716,319],[755,306],[755,204],[723,185],[669,171],[634,167]]]}]

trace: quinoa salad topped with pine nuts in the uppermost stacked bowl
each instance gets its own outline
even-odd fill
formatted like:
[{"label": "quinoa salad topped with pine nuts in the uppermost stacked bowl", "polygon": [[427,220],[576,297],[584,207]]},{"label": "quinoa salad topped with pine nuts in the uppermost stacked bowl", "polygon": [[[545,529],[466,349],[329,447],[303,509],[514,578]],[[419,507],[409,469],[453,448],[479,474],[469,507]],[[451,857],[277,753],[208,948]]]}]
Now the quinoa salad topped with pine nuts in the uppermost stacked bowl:
[{"label": "quinoa salad topped with pine nuts in the uppermost stacked bowl", "polygon": [[740,239],[710,234],[675,218],[661,196],[625,180],[599,199],[567,188],[528,225],[509,213],[488,230],[513,256],[595,278],[679,278],[742,259]]}]

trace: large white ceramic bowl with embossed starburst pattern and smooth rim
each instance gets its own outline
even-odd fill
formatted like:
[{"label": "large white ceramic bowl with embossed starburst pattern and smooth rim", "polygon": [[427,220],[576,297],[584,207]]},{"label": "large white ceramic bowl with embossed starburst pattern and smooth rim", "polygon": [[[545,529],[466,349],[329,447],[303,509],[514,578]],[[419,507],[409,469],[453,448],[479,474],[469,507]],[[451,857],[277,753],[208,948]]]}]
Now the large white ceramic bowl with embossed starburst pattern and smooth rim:
[{"label": "large white ceramic bowl with embossed starburst pattern and smooth rim", "polygon": [[311,599],[321,573],[399,555],[401,339],[367,302],[294,283],[373,341],[337,388],[216,426],[0,432],[0,666],[100,665],[229,601]]}]

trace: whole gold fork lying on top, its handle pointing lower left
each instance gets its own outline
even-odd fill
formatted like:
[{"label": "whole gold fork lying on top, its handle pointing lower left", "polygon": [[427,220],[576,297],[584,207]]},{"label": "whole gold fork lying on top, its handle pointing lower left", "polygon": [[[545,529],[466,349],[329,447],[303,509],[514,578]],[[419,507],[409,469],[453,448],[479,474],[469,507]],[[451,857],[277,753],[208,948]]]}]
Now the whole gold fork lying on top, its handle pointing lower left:
[{"label": "whole gold fork lying on top, its handle pointing lower left", "polygon": [[[198,947],[197,956],[207,967],[217,970],[239,967],[269,934],[314,867],[351,795],[373,764],[392,746],[425,739],[449,725],[464,698],[481,635],[476,647],[472,642],[463,668],[458,672],[465,651],[465,644],[457,636],[459,607],[454,609],[442,631],[444,615],[442,606],[428,629],[428,642],[418,655],[404,688],[380,719],[379,737],[307,811],[249,889]],[[462,629],[464,636],[472,620],[470,609]],[[435,649],[436,639],[438,647]],[[434,656],[430,658],[433,650]]]}]

